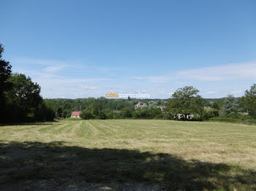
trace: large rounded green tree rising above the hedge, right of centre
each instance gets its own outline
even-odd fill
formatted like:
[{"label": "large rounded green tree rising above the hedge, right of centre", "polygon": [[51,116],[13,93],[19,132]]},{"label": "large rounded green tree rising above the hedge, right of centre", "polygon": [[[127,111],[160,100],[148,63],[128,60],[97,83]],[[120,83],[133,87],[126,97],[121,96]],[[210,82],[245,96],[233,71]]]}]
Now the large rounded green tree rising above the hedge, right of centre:
[{"label": "large rounded green tree rising above the hedge, right of centre", "polygon": [[199,90],[192,86],[179,88],[173,93],[172,98],[167,102],[167,110],[173,115],[201,114],[203,111],[204,99],[197,95]]}]

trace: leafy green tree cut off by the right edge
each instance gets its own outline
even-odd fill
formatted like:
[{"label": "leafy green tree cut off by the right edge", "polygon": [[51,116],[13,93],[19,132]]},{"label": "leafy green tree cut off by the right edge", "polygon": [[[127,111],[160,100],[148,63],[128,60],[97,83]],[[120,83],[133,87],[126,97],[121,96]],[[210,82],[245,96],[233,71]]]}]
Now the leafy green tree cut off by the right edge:
[{"label": "leafy green tree cut off by the right edge", "polygon": [[256,118],[256,84],[252,85],[250,90],[246,90],[241,102],[249,115]]}]

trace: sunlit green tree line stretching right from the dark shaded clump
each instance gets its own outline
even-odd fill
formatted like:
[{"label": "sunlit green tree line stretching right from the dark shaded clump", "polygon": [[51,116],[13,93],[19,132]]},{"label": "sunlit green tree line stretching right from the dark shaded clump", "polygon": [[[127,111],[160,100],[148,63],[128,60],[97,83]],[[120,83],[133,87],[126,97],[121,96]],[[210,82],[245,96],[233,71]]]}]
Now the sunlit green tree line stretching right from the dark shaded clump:
[{"label": "sunlit green tree line stretching right from the dark shaded clump", "polygon": [[[163,120],[251,120],[256,118],[256,85],[241,98],[204,99],[192,86],[179,88],[168,100],[148,99],[47,99],[59,117],[70,117],[72,111],[83,111],[80,117],[89,119],[163,119]],[[146,104],[135,109],[135,104]],[[165,106],[160,109],[159,106]]]}]

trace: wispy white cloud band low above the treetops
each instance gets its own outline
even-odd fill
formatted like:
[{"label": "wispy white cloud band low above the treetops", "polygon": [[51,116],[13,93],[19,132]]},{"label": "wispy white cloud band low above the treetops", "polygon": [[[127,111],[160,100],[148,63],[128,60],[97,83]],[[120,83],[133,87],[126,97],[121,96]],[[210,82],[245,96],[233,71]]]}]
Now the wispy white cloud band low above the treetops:
[{"label": "wispy white cloud band low above the treetops", "polygon": [[240,96],[246,88],[241,81],[256,79],[256,62],[165,71],[165,75],[159,76],[147,76],[145,70],[143,76],[139,77],[132,77],[121,68],[104,68],[68,61],[19,58],[11,63],[15,63],[13,71],[26,74],[42,87],[44,98],[99,97],[109,91],[149,93],[151,98],[170,98],[178,87],[185,85],[197,87],[201,90],[201,95],[207,98],[222,97],[228,93]]}]

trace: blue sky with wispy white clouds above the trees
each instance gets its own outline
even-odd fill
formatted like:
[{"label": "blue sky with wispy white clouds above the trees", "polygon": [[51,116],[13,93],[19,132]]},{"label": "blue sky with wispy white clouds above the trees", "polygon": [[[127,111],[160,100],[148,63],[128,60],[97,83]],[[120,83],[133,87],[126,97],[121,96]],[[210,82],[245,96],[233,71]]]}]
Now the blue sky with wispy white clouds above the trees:
[{"label": "blue sky with wispy white clouds above the trees", "polygon": [[44,98],[204,98],[256,83],[256,1],[1,1],[0,43]]}]

